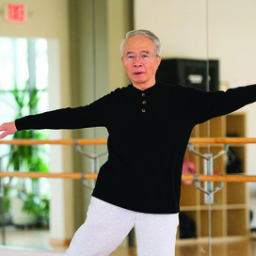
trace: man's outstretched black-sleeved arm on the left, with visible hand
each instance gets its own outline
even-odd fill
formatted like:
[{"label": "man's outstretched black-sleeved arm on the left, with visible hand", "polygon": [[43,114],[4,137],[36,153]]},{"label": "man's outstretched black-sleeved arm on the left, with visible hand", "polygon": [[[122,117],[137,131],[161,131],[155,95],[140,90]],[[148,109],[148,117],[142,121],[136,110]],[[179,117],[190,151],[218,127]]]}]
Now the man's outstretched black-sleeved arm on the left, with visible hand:
[{"label": "man's outstretched black-sleeved arm on the left, with visible hand", "polygon": [[[112,94],[113,95],[113,94]],[[112,97],[113,98],[113,97]],[[106,127],[108,116],[114,108],[111,93],[99,100],[79,107],[60,108],[29,115],[24,118],[3,123],[0,126],[0,139],[22,130],[40,129],[82,129],[88,127]]]}]

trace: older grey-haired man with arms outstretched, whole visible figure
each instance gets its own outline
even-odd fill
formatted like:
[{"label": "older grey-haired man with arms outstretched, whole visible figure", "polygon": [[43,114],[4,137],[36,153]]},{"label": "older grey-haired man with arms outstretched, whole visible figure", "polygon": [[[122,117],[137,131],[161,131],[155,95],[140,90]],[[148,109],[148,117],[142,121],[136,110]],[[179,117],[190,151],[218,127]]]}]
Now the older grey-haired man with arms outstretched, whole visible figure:
[{"label": "older grey-haired man with arms outstretched, whole visible figure", "polygon": [[203,92],[156,82],[160,48],[152,32],[128,32],[121,60],[131,85],[86,106],[0,126],[0,138],[17,129],[106,127],[108,160],[66,255],[109,255],[135,228],[139,256],[174,256],[184,152],[193,127],[256,101],[256,86]]}]

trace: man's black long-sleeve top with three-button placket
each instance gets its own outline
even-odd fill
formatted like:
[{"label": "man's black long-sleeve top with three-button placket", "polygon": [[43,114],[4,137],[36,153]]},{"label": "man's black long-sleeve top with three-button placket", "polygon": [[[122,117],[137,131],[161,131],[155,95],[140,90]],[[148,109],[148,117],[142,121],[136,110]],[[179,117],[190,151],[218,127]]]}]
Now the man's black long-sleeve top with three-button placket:
[{"label": "man's black long-sleeve top with three-button placket", "polygon": [[18,130],[106,127],[109,155],[92,196],[136,212],[174,214],[180,211],[184,152],[193,127],[255,101],[256,85],[204,92],[157,82],[143,91],[117,88],[92,104],[15,122]]}]

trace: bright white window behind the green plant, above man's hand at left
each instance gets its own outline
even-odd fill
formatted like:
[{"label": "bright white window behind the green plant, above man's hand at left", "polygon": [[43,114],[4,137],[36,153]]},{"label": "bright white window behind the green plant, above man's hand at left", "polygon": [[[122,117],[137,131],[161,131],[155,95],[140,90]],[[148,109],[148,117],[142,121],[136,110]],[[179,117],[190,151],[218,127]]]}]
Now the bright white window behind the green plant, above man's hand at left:
[{"label": "bright white window behind the green plant, above man's hand at left", "polygon": [[[0,123],[46,111],[47,40],[0,38],[0,49]],[[11,138],[8,136],[6,139]],[[46,146],[43,152],[45,150]],[[0,145],[0,157],[8,152],[8,145]],[[39,154],[39,158],[43,157]],[[4,157],[2,168],[6,169],[7,166],[8,157]]]}]

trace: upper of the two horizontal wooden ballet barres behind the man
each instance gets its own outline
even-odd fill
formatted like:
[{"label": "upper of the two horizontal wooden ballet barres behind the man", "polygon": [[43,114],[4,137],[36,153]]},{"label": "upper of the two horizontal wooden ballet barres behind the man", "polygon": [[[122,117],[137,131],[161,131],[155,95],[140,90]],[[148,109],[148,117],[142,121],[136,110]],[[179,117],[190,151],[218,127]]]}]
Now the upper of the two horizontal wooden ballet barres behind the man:
[{"label": "upper of the two horizontal wooden ballet barres behind the man", "polygon": [[[106,145],[104,138],[79,138],[79,139],[58,139],[58,140],[40,140],[40,139],[13,139],[0,140],[0,144],[8,145]],[[191,137],[191,144],[256,144],[256,137]]]}]

